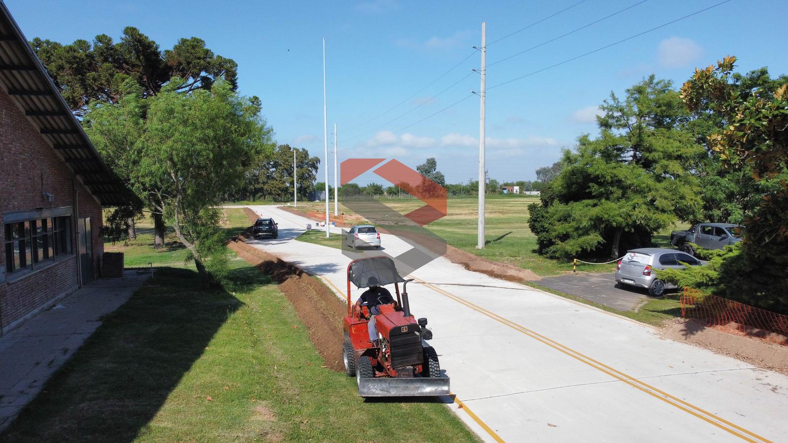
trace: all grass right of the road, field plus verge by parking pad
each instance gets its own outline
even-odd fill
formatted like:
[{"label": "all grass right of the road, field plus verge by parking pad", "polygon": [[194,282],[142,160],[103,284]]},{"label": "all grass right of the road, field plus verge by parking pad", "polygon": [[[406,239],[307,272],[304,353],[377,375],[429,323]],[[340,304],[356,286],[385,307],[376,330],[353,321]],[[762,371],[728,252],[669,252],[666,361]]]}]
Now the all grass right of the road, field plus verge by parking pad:
[{"label": "all grass right of the road, field plus verge by parking pad", "polygon": [[[559,260],[547,259],[537,254],[537,239],[528,228],[528,205],[537,202],[537,197],[521,195],[493,195],[488,197],[485,206],[485,234],[487,238],[484,249],[476,248],[476,229],[478,200],[475,196],[471,197],[452,197],[448,199],[448,214],[440,220],[433,221],[427,229],[443,237],[448,244],[455,248],[463,249],[474,255],[479,255],[485,259],[496,262],[506,262],[524,269],[533,270],[537,275],[548,277],[559,275],[572,270],[571,262],[561,262]],[[385,199],[383,200],[388,207],[397,210],[400,214],[414,210],[422,206],[418,199]],[[299,203],[299,209],[322,210],[324,203],[304,202]],[[340,203],[340,210],[344,214],[353,214],[351,210]],[[672,229],[686,229],[687,225],[678,224],[670,227],[657,235],[653,236],[653,246],[658,248],[670,248],[670,232]],[[341,240],[325,238],[325,234],[317,232],[305,233],[298,240],[308,243],[322,244],[332,248],[340,248]],[[339,236],[336,236],[339,237]],[[385,241],[385,240],[384,240]],[[586,260],[592,261],[592,260]],[[608,259],[599,259],[598,262],[606,262]],[[615,272],[615,263],[606,265],[578,264],[578,271],[581,272]],[[533,287],[552,292],[559,296],[577,300],[605,311],[615,312],[629,318],[634,318],[640,322],[658,325],[666,319],[675,318],[681,315],[678,294],[667,294],[658,299],[649,299],[644,305],[638,307],[637,311],[618,311],[611,307],[605,307],[597,303],[592,303],[577,296],[544,288],[538,283],[530,283]]]}]

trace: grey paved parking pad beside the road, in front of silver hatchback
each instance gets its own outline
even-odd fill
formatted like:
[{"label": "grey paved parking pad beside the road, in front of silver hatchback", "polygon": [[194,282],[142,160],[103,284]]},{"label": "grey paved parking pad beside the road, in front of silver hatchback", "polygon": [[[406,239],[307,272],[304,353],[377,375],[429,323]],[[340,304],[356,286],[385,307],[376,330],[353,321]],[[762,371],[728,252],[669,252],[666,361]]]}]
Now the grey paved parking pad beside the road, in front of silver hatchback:
[{"label": "grey paved parking pad beside the road, in front of silver hatchback", "polygon": [[566,292],[619,311],[633,311],[635,307],[649,299],[645,289],[621,285],[615,282],[615,274],[580,273],[558,277],[545,277],[537,281],[539,285],[556,291]]}]

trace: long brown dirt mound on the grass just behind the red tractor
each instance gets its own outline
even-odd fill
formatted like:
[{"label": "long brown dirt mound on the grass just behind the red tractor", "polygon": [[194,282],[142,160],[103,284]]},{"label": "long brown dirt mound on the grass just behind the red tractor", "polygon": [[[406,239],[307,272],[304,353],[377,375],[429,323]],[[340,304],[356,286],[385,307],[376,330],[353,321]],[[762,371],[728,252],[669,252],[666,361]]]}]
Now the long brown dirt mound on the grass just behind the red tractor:
[{"label": "long brown dirt mound on the grass just behind the red tractor", "polygon": [[322,284],[298,266],[246,244],[243,235],[231,241],[228,247],[262,273],[270,275],[288,298],[299,320],[307,326],[314,348],[323,357],[325,365],[342,371],[342,318],[347,307]]}]

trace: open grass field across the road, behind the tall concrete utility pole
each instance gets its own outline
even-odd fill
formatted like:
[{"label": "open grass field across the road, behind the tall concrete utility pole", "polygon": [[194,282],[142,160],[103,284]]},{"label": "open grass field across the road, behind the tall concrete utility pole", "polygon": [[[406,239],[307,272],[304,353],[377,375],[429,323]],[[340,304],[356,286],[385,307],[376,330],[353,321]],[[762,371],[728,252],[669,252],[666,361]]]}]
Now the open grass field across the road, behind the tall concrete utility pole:
[{"label": "open grass field across the road, behind the tall concrete utility pole", "polygon": [[[400,214],[406,214],[423,204],[418,199],[383,199],[381,201]],[[478,200],[474,196],[450,198],[446,217],[433,221],[427,226],[427,229],[443,237],[448,244],[455,248],[463,249],[485,259],[506,262],[533,270],[538,275],[556,275],[572,270],[571,262],[547,259],[536,252],[537,239],[528,228],[528,205],[538,201],[538,197],[521,195],[492,195],[488,197],[485,203],[486,246],[481,250],[476,248]],[[325,203],[304,202],[299,203],[299,208],[323,210]],[[341,202],[340,212],[353,214]],[[655,236],[655,243],[668,244],[671,229],[676,228],[671,227]],[[307,239],[309,238],[307,237]],[[606,262],[608,260],[599,259],[597,261]],[[585,272],[612,272],[615,270],[615,265],[581,264],[578,269]]]}]

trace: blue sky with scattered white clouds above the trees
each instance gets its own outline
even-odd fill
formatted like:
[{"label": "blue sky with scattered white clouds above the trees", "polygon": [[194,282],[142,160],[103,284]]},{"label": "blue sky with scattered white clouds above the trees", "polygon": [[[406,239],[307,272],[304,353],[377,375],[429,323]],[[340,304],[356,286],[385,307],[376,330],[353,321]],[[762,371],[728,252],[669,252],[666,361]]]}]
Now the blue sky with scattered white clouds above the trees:
[{"label": "blue sky with scattered white clouds above the trees", "polygon": [[[481,43],[481,21],[487,22],[487,62],[491,65],[487,86],[491,87],[722,0],[641,4],[637,4],[641,0],[585,0],[573,6],[579,1],[6,0],[6,5],[28,39],[39,36],[70,43],[101,33],[117,39],[127,25],[140,28],[162,49],[172,47],[180,37],[205,39],[216,54],[238,62],[240,93],[262,99],[263,113],[277,142],[305,147],[321,158],[325,37],[329,150],[336,123],[340,162],[349,157],[381,157],[416,166],[435,157],[447,181],[457,183],[477,176],[479,99],[470,91],[478,91],[479,77],[470,69],[480,63],[471,47]],[[555,17],[491,43],[569,6]],[[629,6],[598,24],[492,65]],[[782,45],[786,13],[785,0],[732,0],[491,89],[487,97],[490,177],[533,180],[534,170],[556,161],[562,147],[572,147],[582,133],[597,132],[594,114],[610,91],[623,95],[626,87],[651,73],[680,85],[695,66],[712,64],[727,54],[738,57],[742,71],[765,65],[772,75],[788,73]],[[414,95],[469,55],[456,69]],[[400,102],[388,114],[369,121]],[[416,123],[425,117],[429,118]],[[318,180],[322,177],[321,168]],[[381,182],[375,177],[367,174],[357,181]],[[329,180],[333,181],[333,160],[329,161]]]}]

